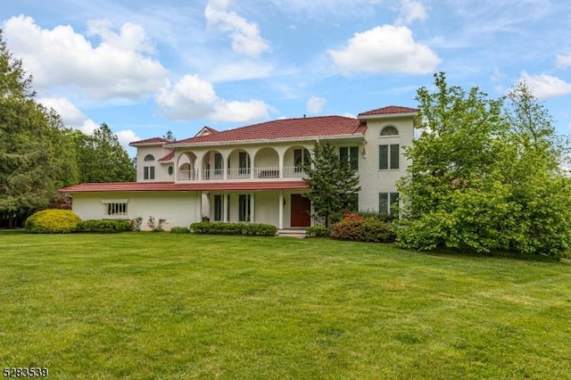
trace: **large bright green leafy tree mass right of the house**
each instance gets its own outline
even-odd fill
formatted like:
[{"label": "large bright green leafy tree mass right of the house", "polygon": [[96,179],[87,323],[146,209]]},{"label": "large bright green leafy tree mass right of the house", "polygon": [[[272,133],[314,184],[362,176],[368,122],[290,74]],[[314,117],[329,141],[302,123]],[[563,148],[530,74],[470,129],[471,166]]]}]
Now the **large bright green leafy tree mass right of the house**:
[{"label": "large bright green leafy tree mass right of the house", "polygon": [[558,255],[571,244],[563,145],[525,86],[493,100],[434,76],[418,90],[421,134],[406,155],[398,241],[418,250]]}]

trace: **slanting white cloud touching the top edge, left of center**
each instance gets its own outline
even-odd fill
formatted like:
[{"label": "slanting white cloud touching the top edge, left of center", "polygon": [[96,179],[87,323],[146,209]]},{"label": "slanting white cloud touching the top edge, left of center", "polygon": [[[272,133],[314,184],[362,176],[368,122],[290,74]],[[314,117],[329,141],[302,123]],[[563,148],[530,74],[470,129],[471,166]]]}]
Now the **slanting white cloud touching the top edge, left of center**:
[{"label": "slanting white cloud touching the top edge, left of center", "polygon": [[269,50],[269,44],[260,35],[256,23],[248,22],[236,12],[228,12],[231,0],[210,0],[204,10],[204,16],[211,28],[230,33],[232,49],[236,53],[257,57]]}]

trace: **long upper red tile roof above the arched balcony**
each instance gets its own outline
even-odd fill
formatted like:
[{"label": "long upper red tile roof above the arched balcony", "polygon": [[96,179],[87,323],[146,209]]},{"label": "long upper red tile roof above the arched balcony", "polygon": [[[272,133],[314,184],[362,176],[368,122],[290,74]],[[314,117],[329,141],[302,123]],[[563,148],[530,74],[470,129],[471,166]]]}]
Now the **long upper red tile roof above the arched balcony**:
[{"label": "long upper red tile roof above the arched balcony", "polygon": [[324,136],[361,135],[360,121],[343,116],[272,120],[252,126],[228,129],[206,136],[195,136],[168,144],[211,144],[232,141],[277,140],[287,138],[313,138]]}]

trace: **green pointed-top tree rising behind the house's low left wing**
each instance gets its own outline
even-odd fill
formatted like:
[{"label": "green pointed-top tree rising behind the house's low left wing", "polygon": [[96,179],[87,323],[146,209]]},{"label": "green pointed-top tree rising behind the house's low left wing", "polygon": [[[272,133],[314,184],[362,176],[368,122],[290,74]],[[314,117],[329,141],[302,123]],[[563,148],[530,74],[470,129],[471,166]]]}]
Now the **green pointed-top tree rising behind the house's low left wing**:
[{"label": "green pointed-top tree rising behind the house's low left wing", "polygon": [[103,123],[92,136],[76,134],[80,182],[135,180],[133,161],[111,128]]}]

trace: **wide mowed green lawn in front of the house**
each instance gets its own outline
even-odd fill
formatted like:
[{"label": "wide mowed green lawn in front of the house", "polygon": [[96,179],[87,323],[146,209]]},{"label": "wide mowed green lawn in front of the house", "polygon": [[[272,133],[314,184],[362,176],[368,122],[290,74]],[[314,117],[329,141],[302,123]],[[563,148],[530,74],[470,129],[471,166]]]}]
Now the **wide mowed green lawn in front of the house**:
[{"label": "wide mowed green lawn in front of the house", "polygon": [[571,378],[571,265],[274,237],[0,233],[0,368]]}]

